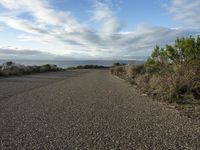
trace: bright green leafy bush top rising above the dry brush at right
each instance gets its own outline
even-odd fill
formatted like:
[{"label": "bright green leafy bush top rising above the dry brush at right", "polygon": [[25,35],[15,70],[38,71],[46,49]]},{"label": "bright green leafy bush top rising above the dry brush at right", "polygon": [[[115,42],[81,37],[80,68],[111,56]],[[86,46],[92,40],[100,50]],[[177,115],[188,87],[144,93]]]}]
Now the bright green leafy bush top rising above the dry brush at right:
[{"label": "bright green leafy bush top rising above the dry brush at right", "polygon": [[145,63],[145,67],[150,70],[157,70],[169,64],[180,66],[199,62],[200,36],[197,38],[177,38],[174,46],[166,45],[164,49],[156,46]]}]

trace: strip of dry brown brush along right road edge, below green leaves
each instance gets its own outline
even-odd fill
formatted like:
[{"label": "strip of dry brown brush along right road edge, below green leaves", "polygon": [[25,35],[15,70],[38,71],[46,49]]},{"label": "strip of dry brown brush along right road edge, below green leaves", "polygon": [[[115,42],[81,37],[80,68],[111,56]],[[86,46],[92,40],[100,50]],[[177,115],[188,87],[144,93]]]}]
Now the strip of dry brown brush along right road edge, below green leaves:
[{"label": "strip of dry brown brush along right road edge, below green leaves", "polygon": [[[159,73],[145,72],[143,65],[115,66],[111,73],[156,98],[168,103],[176,103],[177,109],[187,116],[200,115],[200,71],[198,65],[182,64],[165,66]],[[200,117],[199,117],[200,118]]]}]

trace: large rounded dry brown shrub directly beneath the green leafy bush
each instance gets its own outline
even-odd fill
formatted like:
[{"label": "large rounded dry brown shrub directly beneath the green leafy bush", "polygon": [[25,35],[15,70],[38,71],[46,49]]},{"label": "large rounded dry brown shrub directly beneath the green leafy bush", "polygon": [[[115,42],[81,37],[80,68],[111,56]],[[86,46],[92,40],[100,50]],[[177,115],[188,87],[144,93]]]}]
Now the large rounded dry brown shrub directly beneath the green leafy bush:
[{"label": "large rounded dry brown shrub directly beneath the green leafy bush", "polygon": [[168,68],[162,74],[151,76],[148,91],[168,102],[191,102],[200,97],[199,77],[197,69],[191,65],[184,64],[175,69]]}]

